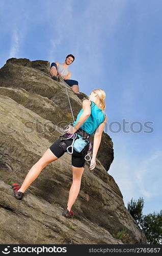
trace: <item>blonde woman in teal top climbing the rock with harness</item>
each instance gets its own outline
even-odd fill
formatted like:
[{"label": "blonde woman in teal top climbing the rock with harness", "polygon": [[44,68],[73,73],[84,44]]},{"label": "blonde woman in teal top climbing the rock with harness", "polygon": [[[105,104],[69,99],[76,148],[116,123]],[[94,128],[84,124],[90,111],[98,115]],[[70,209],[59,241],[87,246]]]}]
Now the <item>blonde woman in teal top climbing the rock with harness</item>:
[{"label": "blonde woman in teal top climbing the rock with harness", "polygon": [[[43,156],[36,162],[32,168],[29,170],[21,186],[14,183],[12,185],[14,196],[16,199],[20,200],[23,196],[24,191],[31,185],[31,183],[38,177],[41,170],[49,163],[60,158],[66,151],[66,148],[71,145],[72,139],[67,139],[70,134],[77,133],[82,134],[82,136],[91,136],[94,132],[94,143],[93,143],[93,154],[90,163],[90,170],[94,169],[96,166],[96,155],[101,142],[102,132],[104,130],[105,124],[107,122],[107,116],[104,113],[105,110],[105,92],[102,89],[93,90],[89,96],[89,99],[83,100],[83,108],[77,115],[76,121],[73,126],[69,125],[65,130],[65,134],[60,136],[60,139],[55,141],[43,154]],[[61,140],[61,138],[65,140]],[[78,138],[78,137],[77,137]],[[71,210],[74,204],[82,180],[82,175],[85,167],[85,156],[89,150],[89,144],[87,144],[84,149],[78,153],[73,150],[72,153],[72,175],[73,181],[69,191],[69,198],[67,207],[63,212],[65,217],[73,217],[74,212]]]}]

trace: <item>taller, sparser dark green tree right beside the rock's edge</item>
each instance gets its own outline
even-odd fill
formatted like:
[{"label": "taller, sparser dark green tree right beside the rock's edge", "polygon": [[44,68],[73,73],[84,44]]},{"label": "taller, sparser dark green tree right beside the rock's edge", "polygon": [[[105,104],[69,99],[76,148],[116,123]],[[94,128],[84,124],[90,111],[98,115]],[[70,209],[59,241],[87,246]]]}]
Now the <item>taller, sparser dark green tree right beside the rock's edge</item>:
[{"label": "taller, sparser dark green tree right beside the rock's edge", "polygon": [[130,203],[127,204],[127,209],[134,220],[140,224],[142,220],[142,210],[144,207],[144,199],[139,198],[138,201],[131,199]]}]

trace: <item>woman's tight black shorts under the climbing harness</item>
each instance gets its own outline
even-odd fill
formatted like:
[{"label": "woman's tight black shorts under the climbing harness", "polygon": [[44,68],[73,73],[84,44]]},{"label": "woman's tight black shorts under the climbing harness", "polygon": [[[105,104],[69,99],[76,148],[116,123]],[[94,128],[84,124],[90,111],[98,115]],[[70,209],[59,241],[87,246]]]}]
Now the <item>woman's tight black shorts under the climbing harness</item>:
[{"label": "woman's tight black shorts under the climbing harness", "polygon": [[[67,135],[68,134],[66,133],[62,137],[67,138]],[[79,137],[77,136],[77,138],[79,138]],[[63,140],[63,141],[66,143],[67,146],[70,146],[72,144],[73,139],[67,139],[67,140]],[[65,151],[63,150],[63,147],[59,146],[59,144],[61,142],[62,142],[62,140],[58,139],[49,147],[51,152],[58,158],[60,158],[65,153]],[[69,149],[70,149],[69,151],[71,151],[71,147]],[[72,166],[85,167],[85,162],[86,162],[85,156],[87,155],[88,150],[89,150],[89,144],[87,144],[80,153],[76,152],[73,149],[73,153],[71,154]]]}]

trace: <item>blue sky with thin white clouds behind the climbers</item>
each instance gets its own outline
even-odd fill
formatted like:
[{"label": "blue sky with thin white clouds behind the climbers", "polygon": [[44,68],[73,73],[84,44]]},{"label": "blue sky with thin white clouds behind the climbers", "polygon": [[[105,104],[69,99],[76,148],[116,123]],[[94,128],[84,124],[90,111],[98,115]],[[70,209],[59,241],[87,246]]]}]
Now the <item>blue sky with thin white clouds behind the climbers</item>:
[{"label": "blue sky with thin white clouds behind the climbers", "polygon": [[[0,67],[11,57],[63,63],[73,54],[69,69],[80,91],[106,92],[105,132],[115,154],[109,174],[125,206],[143,197],[144,214],[159,211],[161,0],[1,0],[0,13]],[[128,133],[118,131],[123,120]]]}]

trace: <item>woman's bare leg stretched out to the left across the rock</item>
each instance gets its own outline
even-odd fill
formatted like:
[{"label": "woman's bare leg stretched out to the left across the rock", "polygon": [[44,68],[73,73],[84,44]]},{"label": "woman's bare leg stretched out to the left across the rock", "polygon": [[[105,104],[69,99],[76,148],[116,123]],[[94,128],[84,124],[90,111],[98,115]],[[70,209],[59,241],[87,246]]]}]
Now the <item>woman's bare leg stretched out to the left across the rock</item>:
[{"label": "woman's bare leg stretched out to the left across the rock", "polygon": [[31,183],[38,177],[41,170],[50,162],[57,160],[56,157],[48,148],[43,156],[35,163],[32,168],[29,170],[28,174],[26,175],[20,189],[17,191],[23,192],[31,185]]}]

